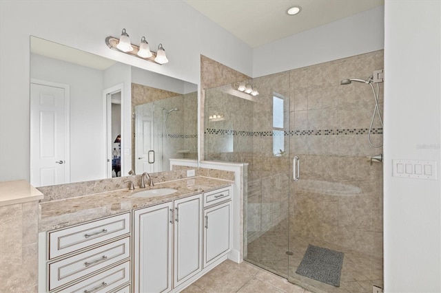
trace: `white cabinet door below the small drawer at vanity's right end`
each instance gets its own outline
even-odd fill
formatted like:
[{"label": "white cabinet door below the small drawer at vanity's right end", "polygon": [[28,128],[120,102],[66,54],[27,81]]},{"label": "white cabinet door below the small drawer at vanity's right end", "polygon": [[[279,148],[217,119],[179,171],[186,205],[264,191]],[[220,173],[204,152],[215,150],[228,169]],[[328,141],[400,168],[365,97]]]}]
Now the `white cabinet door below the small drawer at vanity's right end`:
[{"label": "white cabinet door below the small drawer at vanity's right end", "polygon": [[232,202],[219,204],[204,211],[204,266],[227,254],[232,248]]}]

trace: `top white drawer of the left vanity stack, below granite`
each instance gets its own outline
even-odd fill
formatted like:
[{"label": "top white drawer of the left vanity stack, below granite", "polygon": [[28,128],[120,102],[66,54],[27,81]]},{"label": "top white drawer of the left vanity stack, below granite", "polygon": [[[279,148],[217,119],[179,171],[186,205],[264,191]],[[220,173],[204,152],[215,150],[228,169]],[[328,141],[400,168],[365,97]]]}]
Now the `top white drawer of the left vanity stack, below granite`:
[{"label": "top white drawer of the left vanity stack, below granite", "polygon": [[49,259],[130,232],[130,213],[49,232]]}]

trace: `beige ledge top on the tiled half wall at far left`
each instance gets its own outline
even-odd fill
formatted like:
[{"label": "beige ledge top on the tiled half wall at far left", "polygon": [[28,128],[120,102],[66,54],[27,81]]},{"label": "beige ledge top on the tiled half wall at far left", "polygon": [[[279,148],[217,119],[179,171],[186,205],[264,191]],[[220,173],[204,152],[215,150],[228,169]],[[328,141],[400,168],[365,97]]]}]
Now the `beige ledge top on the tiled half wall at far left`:
[{"label": "beige ledge top on the tiled half wall at far left", "polygon": [[43,199],[43,193],[25,180],[0,182],[0,206],[24,204]]}]

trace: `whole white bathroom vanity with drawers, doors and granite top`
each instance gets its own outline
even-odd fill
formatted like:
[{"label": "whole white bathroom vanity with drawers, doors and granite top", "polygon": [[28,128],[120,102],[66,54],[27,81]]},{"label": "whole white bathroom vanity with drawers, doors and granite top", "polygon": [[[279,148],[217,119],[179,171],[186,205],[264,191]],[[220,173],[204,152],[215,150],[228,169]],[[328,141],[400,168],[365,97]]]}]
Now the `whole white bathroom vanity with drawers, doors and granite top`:
[{"label": "whole white bathroom vanity with drawers, doors and granite top", "polygon": [[39,292],[179,292],[232,250],[232,182],[207,177],[42,202]]}]

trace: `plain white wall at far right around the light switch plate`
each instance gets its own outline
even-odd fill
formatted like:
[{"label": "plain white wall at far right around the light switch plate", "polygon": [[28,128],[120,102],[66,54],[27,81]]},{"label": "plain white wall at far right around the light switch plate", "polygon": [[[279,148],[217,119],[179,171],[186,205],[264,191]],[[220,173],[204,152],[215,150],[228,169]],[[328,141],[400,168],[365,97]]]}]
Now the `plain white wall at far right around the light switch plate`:
[{"label": "plain white wall at far right around the light switch plate", "polygon": [[[384,28],[384,288],[441,292],[441,1],[386,0]],[[392,177],[393,159],[438,180]]]}]

